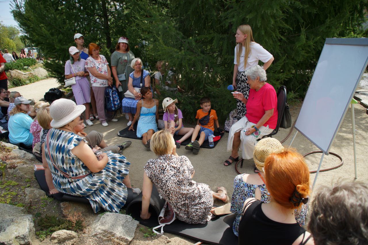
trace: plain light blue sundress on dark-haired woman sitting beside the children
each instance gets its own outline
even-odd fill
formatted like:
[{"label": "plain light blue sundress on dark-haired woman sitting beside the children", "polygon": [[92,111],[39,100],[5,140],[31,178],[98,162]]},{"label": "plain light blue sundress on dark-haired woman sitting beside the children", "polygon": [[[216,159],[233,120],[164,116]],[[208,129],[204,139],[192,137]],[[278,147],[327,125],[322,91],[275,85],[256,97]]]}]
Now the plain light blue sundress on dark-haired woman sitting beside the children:
[{"label": "plain light blue sundress on dark-haired woman sitting beside the children", "polygon": [[146,133],[149,129],[153,129],[155,132],[158,131],[156,124],[156,104],[151,108],[141,107],[141,115],[137,125],[137,137],[141,138],[142,134]]}]

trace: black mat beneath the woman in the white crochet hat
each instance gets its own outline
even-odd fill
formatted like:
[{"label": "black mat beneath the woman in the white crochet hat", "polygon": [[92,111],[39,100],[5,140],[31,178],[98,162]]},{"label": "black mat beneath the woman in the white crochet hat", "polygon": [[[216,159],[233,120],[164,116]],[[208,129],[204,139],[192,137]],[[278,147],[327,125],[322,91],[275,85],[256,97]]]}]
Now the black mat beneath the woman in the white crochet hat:
[{"label": "black mat beneath the woman in the white crochet hat", "polygon": [[[49,197],[53,197],[60,202],[79,202],[79,203],[90,204],[89,200],[82,196],[72,196],[70,194],[61,193],[61,192],[50,195],[49,187],[47,186],[47,183],[46,183],[45,170],[36,170],[35,177],[42,191],[44,191],[46,195]],[[128,191],[127,201],[125,202],[124,206],[131,203],[137,197],[137,193],[133,192],[133,189],[127,188],[127,191]]]}]

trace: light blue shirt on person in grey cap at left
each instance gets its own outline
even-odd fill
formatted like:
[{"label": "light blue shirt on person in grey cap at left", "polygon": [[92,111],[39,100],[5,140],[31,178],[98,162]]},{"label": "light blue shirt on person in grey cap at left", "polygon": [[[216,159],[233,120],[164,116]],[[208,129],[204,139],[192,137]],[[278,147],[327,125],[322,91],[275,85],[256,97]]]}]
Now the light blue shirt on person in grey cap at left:
[{"label": "light blue shirt on person in grey cap at left", "polygon": [[24,113],[17,113],[9,118],[9,141],[13,144],[24,143],[31,146],[33,135],[29,132],[33,119]]}]

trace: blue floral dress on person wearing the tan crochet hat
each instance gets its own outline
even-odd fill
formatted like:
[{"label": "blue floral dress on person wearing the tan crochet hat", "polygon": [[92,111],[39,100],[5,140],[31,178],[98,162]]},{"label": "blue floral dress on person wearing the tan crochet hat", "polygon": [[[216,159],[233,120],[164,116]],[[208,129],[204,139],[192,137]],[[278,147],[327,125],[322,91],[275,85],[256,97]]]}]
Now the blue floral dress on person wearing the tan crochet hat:
[{"label": "blue floral dress on person wearing the tan crochet hat", "polygon": [[[255,198],[255,190],[259,188],[261,191],[261,202],[269,203],[271,195],[267,191],[266,184],[262,185],[251,185],[247,182],[243,181],[243,175],[239,174],[234,179],[234,192],[233,196],[231,197],[231,208],[230,211],[236,214],[234,224],[233,224],[233,232],[238,237],[238,228],[239,222],[241,220],[242,212],[243,212],[243,205],[245,200],[248,198]],[[294,215],[296,221],[303,226],[305,223],[305,216],[307,216],[308,212],[308,203],[302,204],[300,210],[295,210]]]}]

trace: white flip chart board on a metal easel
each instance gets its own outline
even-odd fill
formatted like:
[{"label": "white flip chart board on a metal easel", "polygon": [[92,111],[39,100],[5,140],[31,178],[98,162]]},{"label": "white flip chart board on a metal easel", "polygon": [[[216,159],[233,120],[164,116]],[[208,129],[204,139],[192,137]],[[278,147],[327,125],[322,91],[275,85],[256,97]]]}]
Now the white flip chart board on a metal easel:
[{"label": "white flip chart board on a metal easel", "polygon": [[321,169],[323,157],[329,154],[332,142],[351,104],[354,169],[355,121],[353,96],[368,63],[368,38],[327,38],[305,95],[294,128],[321,149],[322,157],[313,187]]}]

